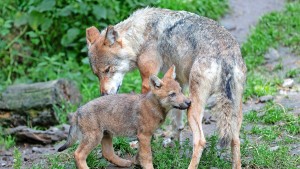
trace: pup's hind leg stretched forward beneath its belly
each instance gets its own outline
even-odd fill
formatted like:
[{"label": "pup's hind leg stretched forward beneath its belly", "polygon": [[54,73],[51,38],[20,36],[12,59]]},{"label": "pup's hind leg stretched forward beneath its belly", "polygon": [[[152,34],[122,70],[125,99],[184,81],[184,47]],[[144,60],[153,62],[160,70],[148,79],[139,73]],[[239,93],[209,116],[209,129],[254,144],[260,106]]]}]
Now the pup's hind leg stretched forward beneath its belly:
[{"label": "pup's hind leg stretched forward beneath its belly", "polygon": [[111,135],[104,134],[101,141],[101,145],[102,145],[102,154],[108,161],[120,167],[131,166],[130,160],[122,159],[115,154]]}]

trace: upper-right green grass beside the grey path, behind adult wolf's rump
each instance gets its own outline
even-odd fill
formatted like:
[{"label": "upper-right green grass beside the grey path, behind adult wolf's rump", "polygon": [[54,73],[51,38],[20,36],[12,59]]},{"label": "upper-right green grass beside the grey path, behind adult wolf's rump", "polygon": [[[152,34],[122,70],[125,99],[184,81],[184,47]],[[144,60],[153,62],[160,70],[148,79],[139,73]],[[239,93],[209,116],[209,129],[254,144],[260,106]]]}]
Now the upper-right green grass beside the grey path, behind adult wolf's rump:
[{"label": "upper-right green grass beside the grey path, behind adult wolf's rump", "polygon": [[[270,76],[270,72],[260,70],[264,63],[264,55],[270,47],[279,45],[289,47],[295,54],[300,54],[300,2],[288,3],[282,12],[272,12],[263,16],[252,29],[247,41],[242,45],[248,74],[244,100],[250,97],[273,95],[277,92],[281,79]],[[274,70],[282,70],[279,63]],[[287,77],[295,77],[296,70],[287,73]]]}]

